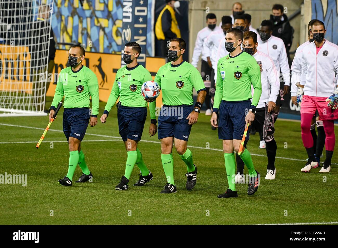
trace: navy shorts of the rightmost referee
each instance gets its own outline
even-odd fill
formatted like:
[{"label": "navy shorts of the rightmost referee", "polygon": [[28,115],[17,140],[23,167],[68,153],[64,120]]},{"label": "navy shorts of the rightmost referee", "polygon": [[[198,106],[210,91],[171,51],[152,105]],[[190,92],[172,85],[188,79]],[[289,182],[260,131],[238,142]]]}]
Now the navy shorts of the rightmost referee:
[{"label": "navy shorts of the rightmost referee", "polygon": [[[219,107],[218,139],[242,140],[245,130],[245,116],[251,106],[251,101],[224,101]],[[249,132],[245,140],[249,140]]]}]

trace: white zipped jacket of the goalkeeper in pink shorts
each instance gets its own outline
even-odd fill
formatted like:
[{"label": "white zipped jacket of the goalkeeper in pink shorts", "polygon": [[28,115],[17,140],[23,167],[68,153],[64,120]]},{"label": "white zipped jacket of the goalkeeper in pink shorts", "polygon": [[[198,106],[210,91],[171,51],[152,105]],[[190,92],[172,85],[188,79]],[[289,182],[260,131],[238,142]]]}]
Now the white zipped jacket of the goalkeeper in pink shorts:
[{"label": "white zipped jacket of the goalkeeper in pink shorts", "polygon": [[314,42],[303,49],[300,84],[304,95],[329,97],[337,88],[338,46],[325,39],[318,54]]}]

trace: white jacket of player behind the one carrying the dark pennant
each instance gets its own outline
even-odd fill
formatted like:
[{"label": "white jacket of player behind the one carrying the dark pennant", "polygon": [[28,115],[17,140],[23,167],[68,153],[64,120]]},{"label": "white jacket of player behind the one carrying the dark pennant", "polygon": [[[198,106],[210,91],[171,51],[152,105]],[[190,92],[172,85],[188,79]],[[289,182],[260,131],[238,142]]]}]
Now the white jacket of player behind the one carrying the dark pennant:
[{"label": "white jacket of player behind the one carrying the dark pennant", "polygon": [[283,40],[273,35],[265,42],[259,38],[257,49],[272,58],[278,73],[282,72],[284,85],[290,86],[290,68]]}]

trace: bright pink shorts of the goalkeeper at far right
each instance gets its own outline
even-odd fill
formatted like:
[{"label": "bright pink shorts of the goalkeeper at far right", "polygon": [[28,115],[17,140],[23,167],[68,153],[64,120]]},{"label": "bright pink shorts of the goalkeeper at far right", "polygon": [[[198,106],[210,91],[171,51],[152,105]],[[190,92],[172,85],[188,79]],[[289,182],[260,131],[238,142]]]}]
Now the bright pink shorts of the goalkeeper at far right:
[{"label": "bright pink shorts of the goalkeeper at far right", "polygon": [[320,120],[338,119],[338,109],[328,107],[327,97],[304,95],[301,100],[300,114],[315,114],[318,110]]}]

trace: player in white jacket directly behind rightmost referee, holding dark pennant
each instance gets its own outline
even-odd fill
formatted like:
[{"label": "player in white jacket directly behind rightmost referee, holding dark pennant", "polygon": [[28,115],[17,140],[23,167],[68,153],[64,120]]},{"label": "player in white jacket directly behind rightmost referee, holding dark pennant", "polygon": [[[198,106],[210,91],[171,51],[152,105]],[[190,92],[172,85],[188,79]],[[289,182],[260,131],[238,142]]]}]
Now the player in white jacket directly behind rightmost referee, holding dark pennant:
[{"label": "player in white jacket directly behind rightmost referee, holding dark pennant", "polygon": [[[272,111],[276,106],[276,99],[280,89],[279,73],[276,70],[272,58],[269,55],[258,51],[258,46],[257,34],[252,31],[244,32],[243,51],[252,55],[256,59],[257,63],[262,65],[262,95],[256,108],[255,121],[253,125],[256,127],[257,131],[260,131],[265,136],[264,140],[266,142],[266,154],[268,157],[267,173],[265,179],[275,179],[276,168],[274,162],[277,144],[274,140],[274,123]],[[241,180],[243,168],[237,167],[237,173],[240,173],[235,176],[235,181],[236,177],[237,180]]]}]

